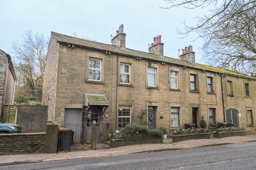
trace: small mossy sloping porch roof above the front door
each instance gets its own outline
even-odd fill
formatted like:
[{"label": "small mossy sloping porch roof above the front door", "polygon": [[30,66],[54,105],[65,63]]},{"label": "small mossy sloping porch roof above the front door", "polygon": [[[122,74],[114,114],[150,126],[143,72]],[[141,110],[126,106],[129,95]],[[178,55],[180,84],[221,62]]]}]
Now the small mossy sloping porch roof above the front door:
[{"label": "small mossy sloping porch roof above the front door", "polygon": [[85,100],[90,106],[109,106],[105,95],[85,94]]}]

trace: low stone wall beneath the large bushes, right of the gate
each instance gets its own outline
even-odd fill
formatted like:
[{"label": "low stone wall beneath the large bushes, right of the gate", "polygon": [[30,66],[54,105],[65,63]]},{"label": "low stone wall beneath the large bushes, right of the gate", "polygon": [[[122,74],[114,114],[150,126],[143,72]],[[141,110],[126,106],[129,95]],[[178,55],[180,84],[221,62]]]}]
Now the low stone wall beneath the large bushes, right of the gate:
[{"label": "low stone wall beneath the large bushes, right of the gate", "polygon": [[126,138],[123,140],[113,139],[112,147],[120,147],[126,145],[140,145],[140,144],[150,144],[150,143],[163,143],[161,137],[137,137],[137,138]]}]

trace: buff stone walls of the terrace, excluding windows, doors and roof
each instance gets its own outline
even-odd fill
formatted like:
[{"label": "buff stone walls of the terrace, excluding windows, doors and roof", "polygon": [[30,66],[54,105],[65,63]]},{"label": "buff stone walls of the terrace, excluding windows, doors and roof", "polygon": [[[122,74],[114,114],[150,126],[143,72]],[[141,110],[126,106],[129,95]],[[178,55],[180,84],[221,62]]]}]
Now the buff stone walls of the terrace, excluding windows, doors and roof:
[{"label": "buff stone walls of the terrace, excluding windows, doors and roof", "polygon": [[[103,45],[105,46],[105,44]],[[102,81],[88,80],[90,57],[102,61]],[[130,84],[119,83],[120,63],[127,63],[131,66]],[[147,67],[156,68],[157,87],[147,86]],[[171,89],[170,87],[170,71],[177,71],[179,74],[178,89]],[[57,74],[57,81],[55,74]],[[196,91],[190,90],[190,74],[197,75]],[[53,75],[54,79],[52,79]],[[212,77],[213,92],[207,92],[207,77]],[[111,128],[118,129],[119,105],[132,106],[131,122],[137,124],[143,124],[138,118],[142,110],[148,110],[148,106],[155,106],[156,127],[163,126],[167,129],[168,134],[172,134],[171,107],[180,107],[179,124],[181,127],[184,127],[185,123],[193,122],[192,107],[198,108],[197,122],[199,123],[201,117],[204,116],[208,127],[210,123],[209,108],[215,109],[216,122],[226,120],[224,113],[226,113],[227,108],[235,108],[239,112],[244,112],[245,108],[250,107],[254,113],[256,94],[252,89],[256,88],[256,81],[249,77],[238,77],[240,78],[238,79],[235,73],[223,77],[220,71],[205,71],[200,66],[187,67],[182,64],[166,64],[162,61],[143,60],[125,54],[107,53],[101,49],[95,50],[83,46],[72,47],[68,43],[51,41],[45,68],[43,104],[49,104],[51,120],[60,123],[65,119],[65,108],[82,109],[84,94],[104,94],[109,101],[109,107],[105,112],[105,115],[108,116],[100,118],[103,135],[110,133]],[[225,91],[227,91],[226,79],[234,81],[235,96],[233,98],[225,96]],[[251,98],[244,96],[243,86],[244,82],[247,81],[251,87]],[[222,92],[225,96],[223,98],[224,105]],[[50,93],[56,94],[55,98],[52,95],[53,98],[49,99],[46,94]],[[163,115],[164,118],[159,120],[159,115]],[[247,117],[243,114],[239,117],[239,126],[247,127]],[[210,128],[217,128],[217,126]]]}]

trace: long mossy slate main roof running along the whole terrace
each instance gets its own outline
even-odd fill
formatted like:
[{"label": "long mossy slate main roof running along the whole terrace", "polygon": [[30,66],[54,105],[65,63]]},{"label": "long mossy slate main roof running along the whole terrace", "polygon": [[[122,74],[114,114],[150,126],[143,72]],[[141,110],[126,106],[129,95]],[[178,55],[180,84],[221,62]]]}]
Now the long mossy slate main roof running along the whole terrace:
[{"label": "long mossy slate main roof running along the whole terrace", "polygon": [[167,56],[159,56],[159,55],[142,52],[142,51],[134,50],[134,49],[130,49],[130,48],[117,47],[115,45],[104,44],[104,43],[99,43],[97,41],[91,41],[91,40],[71,37],[71,36],[63,35],[63,34],[57,33],[57,32],[51,32],[51,34],[52,34],[52,36],[54,36],[57,39],[58,43],[62,43],[62,44],[72,44],[72,45],[77,45],[77,46],[81,46],[84,48],[100,50],[102,52],[110,52],[110,53],[117,54],[117,55],[139,57],[139,58],[142,58],[145,60],[150,60],[150,61],[165,62],[166,64],[186,66],[186,67],[190,67],[193,69],[205,70],[205,71],[210,71],[210,72],[215,72],[215,73],[225,73],[225,74],[229,74],[229,75],[234,75],[236,77],[244,77],[244,78],[256,80],[256,78],[250,77],[249,75],[222,69],[221,67],[214,67],[214,66],[209,66],[209,65],[199,64],[199,63],[190,63],[187,61],[179,60],[177,58],[172,58],[172,57],[167,57]]}]

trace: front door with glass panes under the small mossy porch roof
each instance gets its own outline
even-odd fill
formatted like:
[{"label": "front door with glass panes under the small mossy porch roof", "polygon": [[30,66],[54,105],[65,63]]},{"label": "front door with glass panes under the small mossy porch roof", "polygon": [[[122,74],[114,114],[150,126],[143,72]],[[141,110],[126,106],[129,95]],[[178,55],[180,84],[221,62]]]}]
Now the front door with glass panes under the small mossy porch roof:
[{"label": "front door with glass panes under the small mossy porch roof", "polygon": [[99,115],[99,110],[98,108],[89,108],[89,111],[87,111],[87,115],[86,115],[86,137],[85,140],[86,141],[90,141],[91,137],[92,137],[92,121],[96,121],[97,123],[97,140],[99,140],[99,120],[100,119],[100,115]]}]

